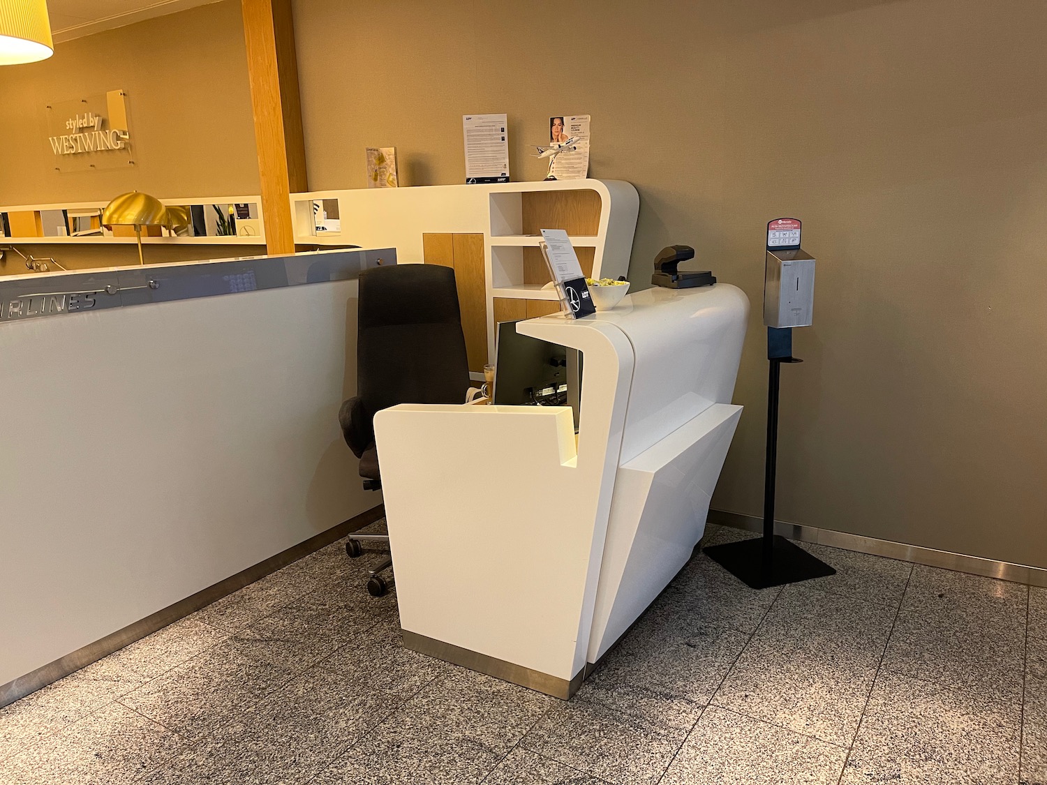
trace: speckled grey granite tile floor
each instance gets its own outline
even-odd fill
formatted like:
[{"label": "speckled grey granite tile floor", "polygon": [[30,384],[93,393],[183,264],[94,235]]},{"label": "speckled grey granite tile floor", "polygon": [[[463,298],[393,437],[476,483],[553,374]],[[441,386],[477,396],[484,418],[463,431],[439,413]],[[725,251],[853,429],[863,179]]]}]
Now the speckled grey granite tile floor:
[{"label": "speckled grey granite tile floor", "polygon": [[1047,589],[805,547],[696,553],[563,702],[404,649],[337,542],[0,710],[0,783],[1047,785]]}]

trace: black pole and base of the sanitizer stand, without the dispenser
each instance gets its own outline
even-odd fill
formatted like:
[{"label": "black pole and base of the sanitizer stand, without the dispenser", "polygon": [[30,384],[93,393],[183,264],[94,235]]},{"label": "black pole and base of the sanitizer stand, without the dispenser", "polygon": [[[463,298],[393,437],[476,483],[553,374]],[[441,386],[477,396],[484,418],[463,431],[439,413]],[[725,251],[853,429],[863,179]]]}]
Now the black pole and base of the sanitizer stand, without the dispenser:
[{"label": "black pole and base of the sanitizer stand, without the dispenser", "polygon": [[763,476],[763,537],[707,547],[705,553],[752,588],[825,578],[837,570],[775,534],[775,479],[778,464],[778,387],[783,362],[793,357],[793,328],[767,328],[767,456]]}]

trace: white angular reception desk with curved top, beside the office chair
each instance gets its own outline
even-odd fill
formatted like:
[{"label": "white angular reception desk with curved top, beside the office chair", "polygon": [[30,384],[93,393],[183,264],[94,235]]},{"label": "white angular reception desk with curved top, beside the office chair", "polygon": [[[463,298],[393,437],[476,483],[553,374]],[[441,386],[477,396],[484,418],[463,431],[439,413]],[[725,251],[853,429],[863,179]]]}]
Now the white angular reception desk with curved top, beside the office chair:
[{"label": "white angular reception desk with curved top, beside the office chair", "polygon": [[519,323],[582,352],[577,440],[567,407],[378,412],[405,645],[569,697],[701,538],[748,311],[718,284]]}]

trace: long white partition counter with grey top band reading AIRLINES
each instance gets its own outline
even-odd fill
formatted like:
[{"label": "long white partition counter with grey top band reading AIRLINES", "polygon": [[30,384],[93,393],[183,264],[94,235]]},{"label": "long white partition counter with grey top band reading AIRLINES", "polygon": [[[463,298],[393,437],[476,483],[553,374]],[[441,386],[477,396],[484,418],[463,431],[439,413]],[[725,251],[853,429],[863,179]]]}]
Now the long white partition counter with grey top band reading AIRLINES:
[{"label": "long white partition counter with grey top band reading AIRLINES", "polygon": [[381,502],[337,420],[379,260],[0,279],[0,705]]}]

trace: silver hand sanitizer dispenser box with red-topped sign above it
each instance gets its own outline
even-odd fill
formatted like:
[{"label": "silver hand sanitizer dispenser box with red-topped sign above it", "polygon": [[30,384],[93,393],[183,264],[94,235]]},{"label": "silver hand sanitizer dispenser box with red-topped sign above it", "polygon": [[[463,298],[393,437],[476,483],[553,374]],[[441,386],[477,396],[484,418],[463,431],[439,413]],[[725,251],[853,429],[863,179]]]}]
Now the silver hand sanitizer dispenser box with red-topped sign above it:
[{"label": "silver hand sanitizer dispenser box with red-topped sign above it", "polygon": [[763,270],[763,323],[773,328],[809,327],[815,310],[815,257],[800,247],[800,221],[779,218],[767,224]]}]

